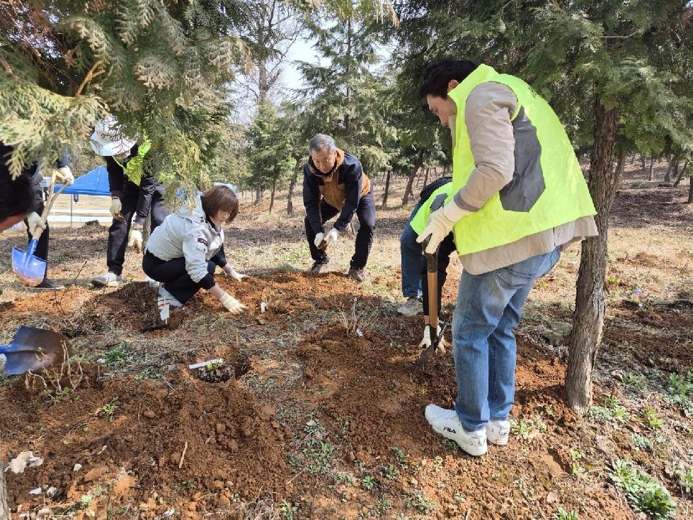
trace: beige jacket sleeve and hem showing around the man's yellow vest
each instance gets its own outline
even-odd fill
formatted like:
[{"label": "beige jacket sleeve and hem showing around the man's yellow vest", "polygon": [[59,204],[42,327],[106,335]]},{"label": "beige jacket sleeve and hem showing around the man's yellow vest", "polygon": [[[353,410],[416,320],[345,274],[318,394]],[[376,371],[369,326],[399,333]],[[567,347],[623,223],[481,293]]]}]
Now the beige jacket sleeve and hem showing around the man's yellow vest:
[{"label": "beige jacket sleeve and hem showing around the man's yellow vest", "polygon": [[[464,120],[469,132],[476,168],[466,184],[454,196],[454,201],[468,211],[478,210],[512,180],[515,169],[512,127],[508,115],[517,111],[517,98],[510,87],[487,82],[477,86],[466,101]],[[454,117],[449,120],[452,142],[455,142]],[[486,251],[460,255],[459,259],[471,274],[488,273],[537,254],[548,253],[556,247],[565,248],[598,234],[594,217],[582,217],[559,227],[531,234],[511,244]]]}]

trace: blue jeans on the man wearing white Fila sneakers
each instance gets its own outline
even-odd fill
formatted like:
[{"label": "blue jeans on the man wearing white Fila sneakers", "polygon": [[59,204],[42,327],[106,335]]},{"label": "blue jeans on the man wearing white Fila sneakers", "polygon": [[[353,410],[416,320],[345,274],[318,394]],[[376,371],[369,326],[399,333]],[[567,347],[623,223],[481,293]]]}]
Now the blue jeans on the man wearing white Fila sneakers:
[{"label": "blue jeans on the man wearing white Fila sneakers", "polygon": [[559,261],[560,247],[480,275],[464,271],[452,317],[455,410],[467,431],[508,419],[515,400],[517,344],[512,329],[534,281]]}]

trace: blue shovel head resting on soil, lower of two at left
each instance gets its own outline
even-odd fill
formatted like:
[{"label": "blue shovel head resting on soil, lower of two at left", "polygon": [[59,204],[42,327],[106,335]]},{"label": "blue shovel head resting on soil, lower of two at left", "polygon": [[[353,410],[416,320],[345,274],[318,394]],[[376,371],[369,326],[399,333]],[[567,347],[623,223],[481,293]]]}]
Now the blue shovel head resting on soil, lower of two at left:
[{"label": "blue shovel head resting on soil, lower of two at left", "polygon": [[72,346],[59,332],[35,327],[19,327],[11,344],[0,345],[0,372],[18,375],[43,368],[69,356]]}]

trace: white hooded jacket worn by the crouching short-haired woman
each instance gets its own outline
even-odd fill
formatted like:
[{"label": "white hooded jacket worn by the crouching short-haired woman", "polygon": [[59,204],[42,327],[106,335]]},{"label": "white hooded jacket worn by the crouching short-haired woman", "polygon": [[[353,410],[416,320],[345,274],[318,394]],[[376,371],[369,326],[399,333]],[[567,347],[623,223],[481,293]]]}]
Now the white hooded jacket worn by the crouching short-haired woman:
[{"label": "white hooded jacket worn by the crouching short-haired woman", "polygon": [[164,261],[185,258],[185,271],[194,282],[199,282],[207,275],[207,261],[223,244],[224,231],[207,220],[197,195],[192,212],[183,206],[151,232],[145,251]]}]

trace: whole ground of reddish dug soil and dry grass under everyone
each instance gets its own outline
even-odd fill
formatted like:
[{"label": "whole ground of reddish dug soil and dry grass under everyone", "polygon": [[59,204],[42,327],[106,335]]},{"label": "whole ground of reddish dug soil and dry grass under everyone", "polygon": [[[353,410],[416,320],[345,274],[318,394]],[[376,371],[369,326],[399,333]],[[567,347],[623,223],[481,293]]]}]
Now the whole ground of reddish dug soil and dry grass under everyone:
[{"label": "whole ground of reddish dug soil and dry grass under everyone", "polygon": [[[18,283],[11,248],[25,234],[2,234],[0,344],[29,325],[62,332],[75,353],[62,375],[0,376],[2,460],[41,460],[6,472],[12,518],[692,518],[693,207],[687,181],[643,177],[626,172],[610,218],[590,413],[565,400],[575,245],[529,295],[510,442],[480,458],[423,415],[452,407],[456,387],[452,354],[418,366],[423,322],[396,314],[411,206],[378,211],[359,285],[345,276],[348,237],[331,271],[306,273],[300,200],[292,217],[284,199],[271,214],[244,201],[226,249],[250,277],[217,283],[248,310],[231,316],[200,293],[166,327],[136,253],[124,285],[89,284],[105,271],[107,228],[52,230],[50,275],[67,288],[50,293]],[[457,259],[449,271],[443,320]],[[224,362],[188,368],[212,358]]]}]

